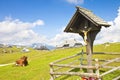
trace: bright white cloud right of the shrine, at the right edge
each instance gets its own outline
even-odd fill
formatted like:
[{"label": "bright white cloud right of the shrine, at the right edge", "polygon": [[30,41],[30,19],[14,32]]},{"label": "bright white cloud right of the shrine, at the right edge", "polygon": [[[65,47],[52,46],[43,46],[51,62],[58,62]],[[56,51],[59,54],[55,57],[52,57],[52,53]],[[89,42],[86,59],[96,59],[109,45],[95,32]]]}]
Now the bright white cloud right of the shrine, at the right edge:
[{"label": "bright white cloud right of the shrine, at the right edge", "polygon": [[109,28],[102,28],[95,43],[105,42],[120,42],[120,8],[118,9],[118,16],[114,21],[109,21],[111,24]]}]

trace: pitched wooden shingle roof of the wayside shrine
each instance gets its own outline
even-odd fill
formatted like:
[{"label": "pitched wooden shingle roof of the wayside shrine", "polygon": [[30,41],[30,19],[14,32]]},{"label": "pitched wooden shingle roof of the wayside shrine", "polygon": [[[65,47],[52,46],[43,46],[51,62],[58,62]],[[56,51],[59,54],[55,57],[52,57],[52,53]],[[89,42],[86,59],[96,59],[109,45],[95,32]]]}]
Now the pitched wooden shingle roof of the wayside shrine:
[{"label": "pitched wooden shingle roof of the wayside shrine", "polygon": [[77,11],[74,14],[74,16],[72,17],[72,19],[70,20],[70,22],[67,25],[64,32],[69,32],[69,29],[71,27],[76,27],[74,24],[77,23],[78,18],[81,18],[81,17],[78,17],[79,15],[85,17],[88,21],[90,21],[95,26],[104,26],[104,27],[109,27],[110,26],[110,24],[108,24],[106,21],[104,21],[100,17],[96,16],[92,11],[90,11],[88,9],[85,9],[85,8],[78,7],[78,6],[76,8],[77,8]]}]

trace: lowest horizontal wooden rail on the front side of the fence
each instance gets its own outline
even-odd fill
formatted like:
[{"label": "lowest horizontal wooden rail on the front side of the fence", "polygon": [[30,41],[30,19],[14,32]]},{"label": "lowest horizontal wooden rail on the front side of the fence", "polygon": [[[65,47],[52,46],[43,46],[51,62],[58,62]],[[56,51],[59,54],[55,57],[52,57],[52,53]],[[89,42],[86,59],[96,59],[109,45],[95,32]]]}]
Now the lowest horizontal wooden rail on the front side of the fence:
[{"label": "lowest horizontal wooden rail on the front side of the fence", "polygon": [[81,77],[95,77],[98,78],[95,73],[80,73],[80,72],[52,72],[52,75],[72,75],[72,76],[81,76]]}]

